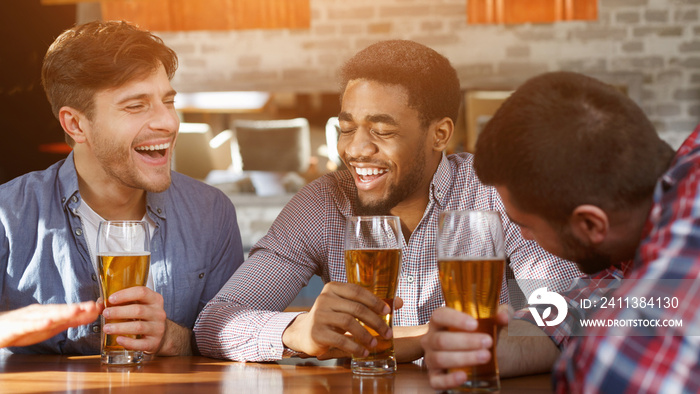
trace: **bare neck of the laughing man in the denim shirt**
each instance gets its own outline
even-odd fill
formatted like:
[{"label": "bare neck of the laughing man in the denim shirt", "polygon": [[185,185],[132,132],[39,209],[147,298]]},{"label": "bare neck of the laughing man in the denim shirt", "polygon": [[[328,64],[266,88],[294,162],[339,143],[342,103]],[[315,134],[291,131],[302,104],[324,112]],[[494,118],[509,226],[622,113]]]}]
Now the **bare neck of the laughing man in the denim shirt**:
[{"label": "bare neck of the laughing man in the denim shirt", "polygon": [[128,187],[104,172],[91,157],[73,154],[78,190],[86,204],[105,220],[140,220],[146,214],[146,191]]}]

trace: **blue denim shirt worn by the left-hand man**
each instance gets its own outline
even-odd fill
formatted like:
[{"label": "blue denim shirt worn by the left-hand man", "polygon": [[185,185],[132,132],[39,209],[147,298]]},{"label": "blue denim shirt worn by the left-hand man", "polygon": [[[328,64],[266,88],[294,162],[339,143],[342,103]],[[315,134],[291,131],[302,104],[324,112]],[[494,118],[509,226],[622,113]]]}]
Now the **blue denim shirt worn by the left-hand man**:
[{"label": "blue denim shirt worn by the left-hand man", "polygon": [[[100,296],[99,277],[76,209],[81,201],[71,153],[44,171],[0,185],[0,312],[33,303],[76,303]],[[204,305],[243,262],[231,201],[218,189],[172,173],[148,193],[156,223],[151,275],[168,319],[192,328]],[[100,320],[15,353],[97,354]]]}]

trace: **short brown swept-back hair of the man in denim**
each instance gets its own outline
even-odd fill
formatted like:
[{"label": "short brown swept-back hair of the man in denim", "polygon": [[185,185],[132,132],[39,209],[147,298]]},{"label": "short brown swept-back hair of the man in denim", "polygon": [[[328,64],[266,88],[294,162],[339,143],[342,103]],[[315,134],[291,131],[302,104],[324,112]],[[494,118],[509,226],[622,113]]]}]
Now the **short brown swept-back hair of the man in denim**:
[{"label": "short brown swept-back hair of the man in denim", "polygon": [[[41,69],[41,83],[54,116],[63,106],[90,119],[94,96],[165,67],[172,79],[177,55],[159,37],[124,21],[95,21],[63,32],[51,44]],[[66,135],[66,141],[72,139]]]}]

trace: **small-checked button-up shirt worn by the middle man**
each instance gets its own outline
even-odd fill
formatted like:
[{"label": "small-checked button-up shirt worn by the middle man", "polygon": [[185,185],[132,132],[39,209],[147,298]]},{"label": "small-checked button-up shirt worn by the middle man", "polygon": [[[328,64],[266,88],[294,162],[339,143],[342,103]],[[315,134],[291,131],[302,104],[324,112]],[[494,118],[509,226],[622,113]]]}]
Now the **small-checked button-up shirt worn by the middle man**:
[{"label": "small-checked button-up shirt worn by the middle man", "polygon": [[[281,311],[313,275],[325,283],[346,281],[343,231],[356,196],[347,171],[326,175],[294,196],[248,260],[200,314],[194,330],[204,355],[265,361],[293,354],[282,345],[282,333],[298,313]],[[506,255],[518,279],[551,281],[550,288],[558,291],[581,275],[574,263],[521,237],[520,229],[508,221],[496,190],[479,182],[470,154],[446,156],[433,177],[422,221],[408,241],[402,239],[397,295],[404,306],[396,311],[397,326],[426,324],[433,310],[444,304],[435,248],[438,216],[444,210],[501,212]],[[501,302],[505,303],[508,293],[503,282]],[[535,289],[522,290],[529,294]]]}]

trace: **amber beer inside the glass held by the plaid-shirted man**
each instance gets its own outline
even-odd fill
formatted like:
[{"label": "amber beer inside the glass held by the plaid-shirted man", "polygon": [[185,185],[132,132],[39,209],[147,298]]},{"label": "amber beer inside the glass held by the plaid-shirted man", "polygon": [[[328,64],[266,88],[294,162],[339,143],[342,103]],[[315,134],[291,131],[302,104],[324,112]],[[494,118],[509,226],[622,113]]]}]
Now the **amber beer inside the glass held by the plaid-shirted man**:
[{"label": "amber beer inside the glass held by the plaid-shirted man", "polygon": [[438,269],[445,305],[475,318],[478,322],[477,331],[493,338],[488,363],[459,370],[467,374],[467,381],[488,381],[498,376],[498,362],[493,352],[498,337],[496,313],[505,260],[445,259],[438,261]]}]

